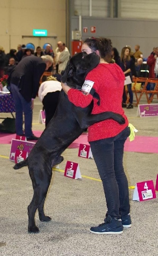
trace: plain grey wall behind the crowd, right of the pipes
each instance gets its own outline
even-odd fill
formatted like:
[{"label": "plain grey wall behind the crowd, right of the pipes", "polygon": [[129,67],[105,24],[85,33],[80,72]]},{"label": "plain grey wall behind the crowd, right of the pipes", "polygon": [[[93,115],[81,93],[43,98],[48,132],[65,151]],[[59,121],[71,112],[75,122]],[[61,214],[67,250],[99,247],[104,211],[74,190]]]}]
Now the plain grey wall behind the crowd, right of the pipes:
[{"label": "plain grey wall behind the crowd, right of the pipes", "polygon": [[[96,26],[95,33],[91,33],[91,26]],[[83,32],[84,27],[88,28],[87,33]],[[158,28],[158,20],[93,17],[82,17],[81,19],[82,40],[91,36],[108,37],[112,40],[113,47],[116,47],[120,53],[125,45],[130,45],[134,51],[134,46],[139,44],[144,57],[148,57],[153,47],[158,46],[156,28]],[[78,16],[71,18],[70,30],[75,29],[79,30]]]}]

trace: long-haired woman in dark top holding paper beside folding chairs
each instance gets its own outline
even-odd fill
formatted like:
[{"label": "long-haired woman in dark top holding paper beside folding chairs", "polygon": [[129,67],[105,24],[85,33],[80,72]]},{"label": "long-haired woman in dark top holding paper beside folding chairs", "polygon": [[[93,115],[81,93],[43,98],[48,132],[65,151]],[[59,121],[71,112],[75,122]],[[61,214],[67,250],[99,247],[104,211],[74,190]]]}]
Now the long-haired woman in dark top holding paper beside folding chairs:
[{"label": "long-haired woman in dark top holding paper beside folding chairs", "polygon": [[[119,66],[124,72],[125,76],[130,76],[131,81],[132,81],[132,73],[134,73],[135,70],[135,63],[132,60],[132,58],[129,55],[130,53],[130,48],[128,46],[123,47],[121,51],[121,61]],[[127,89],[129,93],[129,105],[127,106],[126,101],[127,101],[127,95],[125,91],[125,86],[123,89],[123,102],[122,102],[122,107],[126,107],[127,109],[133,109],[133,92],[132,92],[132,83],[127,84]]]}]

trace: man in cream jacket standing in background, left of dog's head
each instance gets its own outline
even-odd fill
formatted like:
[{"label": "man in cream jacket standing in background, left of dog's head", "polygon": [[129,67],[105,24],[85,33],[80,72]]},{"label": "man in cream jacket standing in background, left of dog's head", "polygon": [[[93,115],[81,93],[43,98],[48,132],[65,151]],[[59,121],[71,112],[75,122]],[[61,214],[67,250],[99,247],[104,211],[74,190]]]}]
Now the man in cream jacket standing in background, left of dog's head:
[{"label": "man in cream jacket standing in background, left of dog's head", "polygon": [[58,59],[58,63],[59,63],[58,73],[61,74],[61,71],[65,70],[67,62],[70,59],[70,52],[64,43],[59,46],[59,50],[61,51],[61,53]]}]

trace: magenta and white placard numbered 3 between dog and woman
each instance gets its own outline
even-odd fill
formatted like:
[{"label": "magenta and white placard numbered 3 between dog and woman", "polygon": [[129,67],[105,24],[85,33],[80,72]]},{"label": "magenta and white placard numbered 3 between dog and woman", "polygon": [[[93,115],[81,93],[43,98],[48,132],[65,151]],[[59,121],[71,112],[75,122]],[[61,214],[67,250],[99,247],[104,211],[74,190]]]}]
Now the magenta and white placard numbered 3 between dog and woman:
[{"label": "magenta and white placard numbered 3 between dog and woman", "polygon": [[72,179],[81,179],[81,172],[78,163],[67,161],[64,176]]}]

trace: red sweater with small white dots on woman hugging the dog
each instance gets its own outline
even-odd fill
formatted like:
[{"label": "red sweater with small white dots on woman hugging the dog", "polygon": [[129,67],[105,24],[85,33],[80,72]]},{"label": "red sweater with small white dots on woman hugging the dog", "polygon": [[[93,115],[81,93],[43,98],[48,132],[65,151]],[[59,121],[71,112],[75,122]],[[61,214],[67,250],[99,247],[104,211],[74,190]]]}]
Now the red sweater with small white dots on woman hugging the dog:
[{"label": "red sweater with small white dots on woman hugging the dog", "polygon": [[97,99],[93,99],[91,94],[85,95],[77,89],[68,91],[68,98],[75,106],[87,107],[92,99],[94,100],[93,114],[112,111],[121,114],[126,123],[120,125],[112,119],[95,123],[88,128],[88,141],[111,138],[119,134],[128,126],[128,119],[122,109],[122,95],[124,87],[124,73],[117,64],[100,63],[96,68],[88,73],[86,80],[93,81],[93,88],[100,96],[100,105]]}]

